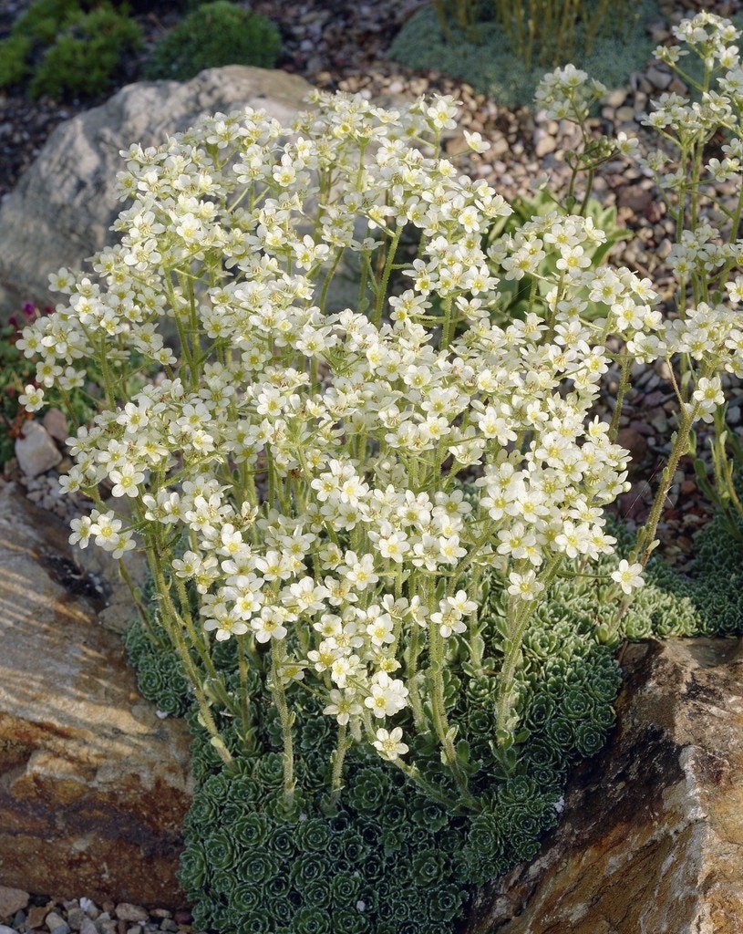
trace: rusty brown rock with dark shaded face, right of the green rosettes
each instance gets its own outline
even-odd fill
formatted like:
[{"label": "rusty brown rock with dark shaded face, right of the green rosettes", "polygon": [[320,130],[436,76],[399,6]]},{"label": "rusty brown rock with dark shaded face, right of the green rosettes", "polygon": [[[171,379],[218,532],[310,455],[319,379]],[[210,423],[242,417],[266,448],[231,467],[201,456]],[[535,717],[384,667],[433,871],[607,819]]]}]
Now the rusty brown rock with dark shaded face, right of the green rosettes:
[{"label": "rusty brown rock with dark shaded face, right of the green rosettes", "polygon": [[630,645],[618,728],[467,934],[743,932],[743,641]]}]

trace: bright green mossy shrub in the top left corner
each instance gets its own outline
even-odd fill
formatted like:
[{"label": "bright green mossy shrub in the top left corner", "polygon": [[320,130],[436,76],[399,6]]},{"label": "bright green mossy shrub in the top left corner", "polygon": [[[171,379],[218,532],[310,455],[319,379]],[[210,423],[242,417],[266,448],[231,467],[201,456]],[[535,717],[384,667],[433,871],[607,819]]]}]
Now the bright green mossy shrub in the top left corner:
[{"label": "bright green mossy shrub in the top left corner", "polygon": [[141,41],[126,5],[37,0],[0,44],[0,87],[30,79],[32,97],[96,96]]}]

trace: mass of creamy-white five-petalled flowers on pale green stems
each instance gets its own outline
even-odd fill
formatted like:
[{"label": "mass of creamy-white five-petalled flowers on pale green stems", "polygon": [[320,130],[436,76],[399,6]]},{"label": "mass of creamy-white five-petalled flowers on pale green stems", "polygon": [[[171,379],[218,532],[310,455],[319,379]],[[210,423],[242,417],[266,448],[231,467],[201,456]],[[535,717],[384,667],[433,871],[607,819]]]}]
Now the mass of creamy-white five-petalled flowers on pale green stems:
[{"label": "mass of creamy-white five-petalled flowers on pale green stems", "polygon": [[[540,100],[584,120],[598,93],[586,87],[558,70]],[[710,101],[710,120],[739,110]],[[698,361],[680,391],[688,433],[720,405],[719,371],[743,372],[743,318],[700,295],[664,320],[647,279],[595,268],[604,234],[580,215],[555,209],[484,250],[510,208],[431,155],[453,125],[450,98],[399,111],[320,92],[313,103],[290,131],[246,109],[124,153],[133,204],[120,244],[93,258],[94,277],[54,277],[67,302],[19,347],[38,355],[45,386],[75,386],[100,361],[106,405],[72,440],[66,485],[107,481],[132,518],[98,503],[73,539],[120,557],[141,538],[174,644],[184,657],[196,645],[206,665],[207,727],[215,699],[233,702],[208,659],[235,639],[242,665],[270,658],[287,794],[287,690],[299,682],[337,721],[334,787],[351,738],[410,768],[394,723],[410,710],[465,788],[443,672],[452,658],[483,664],[485,571],[509,633],[497,717],[508,745],[529,616],[561,568],[614,544],[603,509],[626,488],[626,452],[594,416],[607,339],[625,359]],[[680,105],[666,104],[678,123]],[[710,172],[734,172],[738,149]],[[735,297],[737,245],[712,242],[699,228],[676,272],[722,268]],[[548,255],[541,304],[494,323],[499,280],[543,277]],[[335,274],[350,266],[356,303],[334,304]],[[161,374],[132,395],[143,358]],[[627,596],[642,584],[646,556],[635,557],[613,575]]]}]

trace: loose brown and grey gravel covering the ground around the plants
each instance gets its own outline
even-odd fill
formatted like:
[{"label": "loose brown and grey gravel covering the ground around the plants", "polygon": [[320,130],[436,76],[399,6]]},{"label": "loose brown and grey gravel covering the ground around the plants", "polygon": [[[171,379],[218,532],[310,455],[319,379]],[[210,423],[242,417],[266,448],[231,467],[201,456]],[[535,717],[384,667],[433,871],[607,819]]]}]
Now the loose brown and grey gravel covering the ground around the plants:
[{"label": "loose brown and grey gravel covering the ground around the plants", "polygon": [[[28,0],[0,0],[0,37],[27,4]],[[459,128],[447,138],[445,148],[450,156],[457,156],[463,170],[486,178],[508,198],[528,193],[531,180],[542,173],[547,173],[554,190],[564,188],[568,178],[564,155],[573,141],[569,126],[534,115],[526,108],[511,111],[499,106],[460,80],[436,72],[414,74],[386,61],[386,49],[400,26],[423,5],[421,0],[373,3],[255,0],[252,7],[279,25],[285,48],[282,67],[287,71],[300,74],[319,87],[360,92],[388,105],[421,93],[451,93],[462,102],[462,116]],[[679,21],[700,8],[730,15],[740,6],[736,0],[668,0],[661,4],[664,19],[654,27],[656,41],[667,38],[669,21]],[[173,8],[166,4],[158,8],[164,9],[164,13],[141,17],[149,43],[174,21]],[[135,75],[136,63],[132,64],[132,71]],[[596,120],[596,129],[644,134],[638,115],[647,109],[655,94],[669,88],[682,90],[663,68],[649,64],[631,76],[626,88],[610,93]],[[29,103],[19,96],[0,93],[0,196],[12,190],[54,126],[81,109],[83,105],[77,102],[42,99]],[[467,154],[462,133],[465,128],[483,134],[492,143],[492,149],[482,156]],[[596,178],[596,195],[606,205],[615,205],[620,220],[635,234],[629,243],[615,251],[612,261],[652,277],[662,298],[670,299],[672,286],[664,259],[671,247],[673,223],[665,216],[652,179],[624,163],[609,163]],[[620,498],[618,508],[630,523],[641,524],[647,517],[653,478],[662,470],[669,450],[674,399],[665,366],[659,363],[638,375],[634,394],[626,400],[621,419],[620,441],[633,452],[635,462],[630,477],[633,487]],[[617,375],[610,371],[605,380],[601,402],[605,410],[612,408]],[[736,431],[743,434],[743,391],[736,389],[734,396],[730,411]],[[700,448],[703,445],[702,441]],[[60,496],[59,470],[28,480],[11,463],[7,475],[19,480],[37,504],[60,517],[69,518],[71,510],[79,511],[84,506],[82,501],[69,503]],[[683,570],[689,565],[694,532],[707,521],[709,513],[696,488],[689,459],[681,461],[667,506],[659,529],[663,551]],[[0,934],[13,931],[145,934],[154,930],[192,930],[187,911],[147,911],[138,906],[114,904],[96,906],[83,896],[84,893],[77,893],[77,898],[71,900],[30,896],[14,913],[6,917],[0,914]]]}]

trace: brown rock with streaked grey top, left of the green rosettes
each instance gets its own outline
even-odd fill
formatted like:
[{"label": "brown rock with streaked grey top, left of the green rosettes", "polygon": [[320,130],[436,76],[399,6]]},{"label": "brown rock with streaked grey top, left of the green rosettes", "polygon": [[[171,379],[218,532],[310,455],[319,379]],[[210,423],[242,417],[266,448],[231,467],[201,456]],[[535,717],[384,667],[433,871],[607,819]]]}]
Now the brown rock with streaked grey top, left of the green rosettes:
[{"label": "brown rock with streaked grey top, left of the green rosettes", "polygon": [[189,734],[138,694],[66,540],[0,487],[0,881],[177,908]]}]

